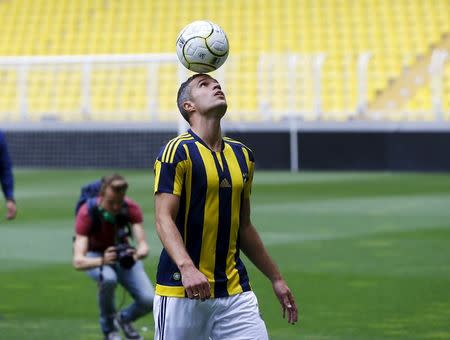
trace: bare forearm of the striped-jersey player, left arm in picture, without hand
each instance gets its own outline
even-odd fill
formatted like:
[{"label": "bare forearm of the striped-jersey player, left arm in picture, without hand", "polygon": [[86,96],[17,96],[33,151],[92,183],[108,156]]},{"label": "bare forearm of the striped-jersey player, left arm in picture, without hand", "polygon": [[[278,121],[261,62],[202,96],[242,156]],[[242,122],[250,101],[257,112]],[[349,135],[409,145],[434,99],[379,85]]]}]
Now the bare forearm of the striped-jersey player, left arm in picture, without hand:
[{"label": "bare forearm of the striped-jersey player, left arm in picture, without hand", "polygon": [[187,266],[193,265],[192,259],[184,246],[183,239],[172,219],[157,218],[156,232],[164,249],[169,253],[172,261],[175,262],[180,271]]}]

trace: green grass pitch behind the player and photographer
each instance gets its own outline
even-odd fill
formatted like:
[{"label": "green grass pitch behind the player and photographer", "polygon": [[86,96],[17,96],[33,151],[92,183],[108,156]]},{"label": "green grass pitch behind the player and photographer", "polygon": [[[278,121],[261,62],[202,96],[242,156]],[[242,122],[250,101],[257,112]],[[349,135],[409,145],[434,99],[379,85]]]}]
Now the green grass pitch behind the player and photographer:
[{"label": "green grass pitch behind the player and photographer", "polygon": [[[71,236],[80,186],[105,173],[16,170],[18,217],[0,210],[1,339],[101,338],[96,287],[72,268]],[[145,213],[154,281],[152,171],[121,173]],[[450,175],[259,171],[252,219],[300,308],[288,325],[246,261],[271,339],[450,339]],[[152,316],[137,326],[153,338]]]}]

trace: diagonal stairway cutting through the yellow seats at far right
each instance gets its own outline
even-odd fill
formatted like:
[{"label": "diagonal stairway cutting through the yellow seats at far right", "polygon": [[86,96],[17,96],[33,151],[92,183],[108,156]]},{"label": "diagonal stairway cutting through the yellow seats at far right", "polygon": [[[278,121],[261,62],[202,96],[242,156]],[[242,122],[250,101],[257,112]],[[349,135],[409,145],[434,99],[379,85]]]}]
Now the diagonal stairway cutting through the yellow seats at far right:
[{"label": "diagonal stairway cutting through the yellow seats at far right", "polygon": [[435,49],[450,53],[450,35],[443,34],[436,45],[431,45],[426,55],[419,55],[413,65],[404,67],[396,78],[389,79],[388,86],[380,90],[369,103],[371,111],[397,111],[405,106],[421,88],[429,85],[429,65]]}]

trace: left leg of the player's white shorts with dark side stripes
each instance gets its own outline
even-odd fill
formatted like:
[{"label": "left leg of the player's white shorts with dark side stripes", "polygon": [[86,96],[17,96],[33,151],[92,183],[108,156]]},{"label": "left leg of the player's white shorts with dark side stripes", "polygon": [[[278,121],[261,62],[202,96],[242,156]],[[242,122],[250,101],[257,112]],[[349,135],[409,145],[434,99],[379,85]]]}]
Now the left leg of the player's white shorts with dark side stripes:
[{"label": "left leg of the player's white shorts with dark side stripes", "polygon": [[207,340],[211,302],[155,295],[155,340]]}]

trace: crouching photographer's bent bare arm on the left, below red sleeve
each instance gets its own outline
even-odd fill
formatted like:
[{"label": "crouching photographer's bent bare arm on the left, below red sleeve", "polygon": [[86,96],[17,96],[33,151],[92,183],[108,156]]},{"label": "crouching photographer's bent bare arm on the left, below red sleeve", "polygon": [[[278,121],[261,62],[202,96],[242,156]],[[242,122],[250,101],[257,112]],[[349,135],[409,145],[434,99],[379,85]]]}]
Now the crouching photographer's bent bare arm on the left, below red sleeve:
[{"label": "crouching photographer's bent bare arm on the left, below red sleeve", "polygon": [[104,264],[113,264],[116,261],[115,247],[105,250],[102,257],[87,257],[89,238],[85,235],[76,234],[73,243],[73,266],[77,270],[86,270],[100,267]]}]

